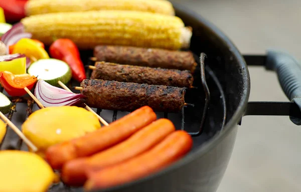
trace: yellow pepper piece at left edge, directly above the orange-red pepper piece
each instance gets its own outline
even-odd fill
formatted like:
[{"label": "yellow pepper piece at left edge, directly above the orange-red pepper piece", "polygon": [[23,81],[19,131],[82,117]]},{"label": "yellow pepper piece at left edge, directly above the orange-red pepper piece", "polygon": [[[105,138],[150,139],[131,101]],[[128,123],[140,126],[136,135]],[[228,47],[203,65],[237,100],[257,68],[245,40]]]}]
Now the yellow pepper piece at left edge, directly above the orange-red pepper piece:
[{"label": "yellow pepper piece at left edge, directly above the orange-red pepper piece", "polygon": [[0,61],[0,71],[10,71],[14,74],[26,73],[26,57],[10,61]]}]

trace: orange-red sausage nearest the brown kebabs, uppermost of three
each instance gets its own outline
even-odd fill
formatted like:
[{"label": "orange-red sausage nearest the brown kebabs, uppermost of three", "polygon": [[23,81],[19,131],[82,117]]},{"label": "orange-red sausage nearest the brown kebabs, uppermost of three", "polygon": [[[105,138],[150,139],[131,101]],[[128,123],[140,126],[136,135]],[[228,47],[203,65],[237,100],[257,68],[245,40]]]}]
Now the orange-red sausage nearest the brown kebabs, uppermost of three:
[{"label": "orange-red sausage nearest the brown kebabs, uppermost of three", "polygon": [[50,146],[46,151],[46,159],[54,169],[60,169],[68,160],[89,156],[125,140],[156,118],[157,115],[152,108],[143,106],[108,126]]}]

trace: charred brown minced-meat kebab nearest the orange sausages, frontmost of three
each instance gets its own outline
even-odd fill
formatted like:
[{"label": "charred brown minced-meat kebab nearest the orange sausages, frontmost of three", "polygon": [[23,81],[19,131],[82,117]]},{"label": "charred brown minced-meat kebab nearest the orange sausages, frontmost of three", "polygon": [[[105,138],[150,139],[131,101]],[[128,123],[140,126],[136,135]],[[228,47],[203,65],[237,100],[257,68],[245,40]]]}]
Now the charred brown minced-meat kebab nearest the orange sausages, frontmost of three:
[{"label": "charred brown minced-meat kebab nearest the orange sausages, frontmost of three", "polygon": [[179,112],[185,104],[186,88],[85,79],[81,93],[90,107],[132,111],[147,105],[155,111]]}]

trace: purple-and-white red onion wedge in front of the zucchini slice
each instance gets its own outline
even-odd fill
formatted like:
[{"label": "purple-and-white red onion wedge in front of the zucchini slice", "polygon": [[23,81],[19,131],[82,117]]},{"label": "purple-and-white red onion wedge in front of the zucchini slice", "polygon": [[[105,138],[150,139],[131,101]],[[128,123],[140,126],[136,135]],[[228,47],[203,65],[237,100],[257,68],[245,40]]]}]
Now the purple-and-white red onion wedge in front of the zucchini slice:
[{"label": "purple-and-white red onion wedge in front of the zucchini slice", "polygon": [[81,103],[85,97],[83,94],[76,94],[65,89],[53,86],[40,79],[35,88],[35,95],[45,106],[64,106]]}]

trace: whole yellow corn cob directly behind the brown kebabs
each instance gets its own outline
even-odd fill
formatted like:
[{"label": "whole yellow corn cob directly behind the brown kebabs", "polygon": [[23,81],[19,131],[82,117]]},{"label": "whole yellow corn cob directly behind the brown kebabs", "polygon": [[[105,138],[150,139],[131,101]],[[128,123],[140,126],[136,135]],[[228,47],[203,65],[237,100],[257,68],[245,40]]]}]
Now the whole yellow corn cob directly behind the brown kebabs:
[{"label": "whole yellow corn cob directly behind the brown kebabs", "polygon": [[69,38],[81,49],[99,44],[187,48],[192,31],[177,16],[141,11],[84,11],[33,15],[21,20],[25,31],[49,45]]}]

